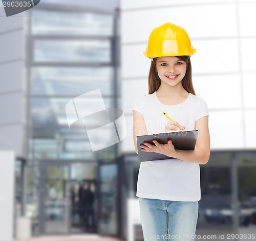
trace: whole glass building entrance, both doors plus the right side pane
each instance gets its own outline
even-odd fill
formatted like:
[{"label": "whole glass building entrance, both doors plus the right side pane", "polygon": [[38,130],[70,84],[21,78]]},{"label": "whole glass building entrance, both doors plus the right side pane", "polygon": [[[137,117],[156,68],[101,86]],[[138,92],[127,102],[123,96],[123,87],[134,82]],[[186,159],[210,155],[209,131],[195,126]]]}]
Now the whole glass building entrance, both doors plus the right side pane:
[{"label": "whole glass building entrance, both doors plus the right side pane", "polygon": [[118,235],[116,162],[41,161],[39,233]]}]

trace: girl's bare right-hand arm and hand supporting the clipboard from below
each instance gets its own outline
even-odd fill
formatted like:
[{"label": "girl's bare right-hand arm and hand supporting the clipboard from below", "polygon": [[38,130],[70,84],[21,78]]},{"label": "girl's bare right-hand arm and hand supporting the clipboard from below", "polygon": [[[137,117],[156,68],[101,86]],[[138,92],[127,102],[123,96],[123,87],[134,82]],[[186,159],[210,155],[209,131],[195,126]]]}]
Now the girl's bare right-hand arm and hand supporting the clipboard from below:
[{"label": "girl's bare right-hand arm and hand supporting the clipboard from below", "polygon": [[198,130],[196,149],[191,151],[176,150],[171,140],[166,144],[161,144],[154,140],[156,146],[144,143],[143,151],[157,152],[169,157],[174,157],[183,161],[206,164],[210,156],[210,135],[208,129],[208,116],[204,116],[196,121],[195,129]]}]

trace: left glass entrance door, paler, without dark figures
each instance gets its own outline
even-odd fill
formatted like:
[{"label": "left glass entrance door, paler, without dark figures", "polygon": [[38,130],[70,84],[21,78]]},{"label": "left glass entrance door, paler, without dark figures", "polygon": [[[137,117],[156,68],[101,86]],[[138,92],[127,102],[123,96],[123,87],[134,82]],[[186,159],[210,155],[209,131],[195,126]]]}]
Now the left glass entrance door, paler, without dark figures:
[{"label": "left glass entrance door, paler, without dark figures", "polygon": [[71,204],[69,164],[42,163],[41,171],[41,233],[68,234]]}]

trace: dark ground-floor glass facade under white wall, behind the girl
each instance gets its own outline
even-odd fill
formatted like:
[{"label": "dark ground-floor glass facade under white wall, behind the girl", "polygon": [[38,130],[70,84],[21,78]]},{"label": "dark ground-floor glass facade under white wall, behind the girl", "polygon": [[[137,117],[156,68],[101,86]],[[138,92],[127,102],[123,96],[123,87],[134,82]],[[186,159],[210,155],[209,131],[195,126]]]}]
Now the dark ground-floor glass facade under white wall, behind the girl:
[{"label": "dark ground-floor glass facade under white wall, behind the girl", "polygon": [[[122,163],[122,199],[134,199],[140,165],[138,157],[124,156]],[[223,234],[225,237],[236,233],[248,237],[254,233],[255,164],[255,151],[211,151],[209,162],[200,165],[201,200],[196,231],[198,236],[210,235],[209,239],[221,240],[220,235]],[[125,224],[126,218],[123,217]],[[126,229],[125,225],[123,229]],[[143,240],[140,225],[135,227],[134,232],[136,241]]]}]

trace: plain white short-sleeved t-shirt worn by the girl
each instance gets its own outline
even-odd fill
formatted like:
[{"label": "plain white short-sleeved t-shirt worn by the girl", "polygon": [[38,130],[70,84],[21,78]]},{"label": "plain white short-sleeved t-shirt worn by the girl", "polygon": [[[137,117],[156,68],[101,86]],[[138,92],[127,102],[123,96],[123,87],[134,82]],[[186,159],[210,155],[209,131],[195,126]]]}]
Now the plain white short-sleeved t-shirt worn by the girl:
[{"label": "plain white short-sleeved t-shirt worn by the girl", "polygon": [[[165,125],[169,120],[163,111],[174,121],[185,126],[186,131],[195,130],[196,121],[208,115],[206,102],[191,93],[178,105],[162,104],[156,92],[143,95],[135,100],[133,110],[143,115],[147,134],[165,131]],[[201,198],[199,164],[174,158],[141,162],[137,197],[199,201]]]}]

